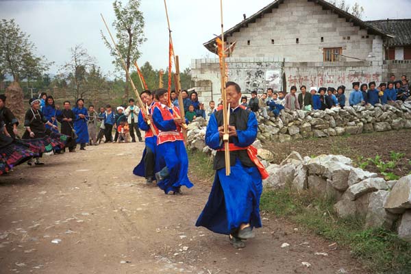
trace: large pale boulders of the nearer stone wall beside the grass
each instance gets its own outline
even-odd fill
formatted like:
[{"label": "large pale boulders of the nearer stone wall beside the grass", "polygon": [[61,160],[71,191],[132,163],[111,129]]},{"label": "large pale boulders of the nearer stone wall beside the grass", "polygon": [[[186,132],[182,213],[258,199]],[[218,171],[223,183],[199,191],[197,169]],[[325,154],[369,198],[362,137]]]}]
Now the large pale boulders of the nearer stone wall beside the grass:
[{"label": "large pale boulders of the nearer stone wall beside the grass", "polygon": [[411,242],[411,175],[387,182],[353,167],[351,159],[342,155],[301,158],[297,152],[281,164],[269,165],[267,171],[265,186],[310,189],[319,197],[334,198],[338,216],[365,216],[364,228],[394,229],[398,221],[399,237]]}]

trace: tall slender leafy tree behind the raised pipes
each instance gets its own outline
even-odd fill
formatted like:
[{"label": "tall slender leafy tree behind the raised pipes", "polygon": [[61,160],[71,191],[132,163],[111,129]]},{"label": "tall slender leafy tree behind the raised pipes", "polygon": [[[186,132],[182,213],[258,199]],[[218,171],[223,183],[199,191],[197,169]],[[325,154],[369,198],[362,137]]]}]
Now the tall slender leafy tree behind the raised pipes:
[{"label": "tall slender leafy tree behind the raised pipes", "polygon": [[[114,56],[113,64],[116,65],[116,69],[119,71],[124,71],[121,58],[125,58],[125,65],[127,71],[129,71],[132,62],[140,57],[141,53],[138,47],[146,40],[144,36],[144,17],[142,12],[138,10],[139,8],[140,0],[129,0],[125,6],[121,1],[113,2],[116,21],[112,23],[112,26],[116,29],[116,43],[121,56],[117,55],[114,45],[101,32],[101,38],[110,49],[110,54]],[[129,85],[125,85],[124,91],[125,98],[129,98]]]}]

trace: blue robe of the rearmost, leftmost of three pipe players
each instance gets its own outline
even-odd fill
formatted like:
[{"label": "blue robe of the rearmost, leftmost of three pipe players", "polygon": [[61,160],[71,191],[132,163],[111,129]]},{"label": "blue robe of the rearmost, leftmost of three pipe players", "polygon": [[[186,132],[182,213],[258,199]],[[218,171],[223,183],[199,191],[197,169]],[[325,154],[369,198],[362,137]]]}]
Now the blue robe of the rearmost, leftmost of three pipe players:
[{"label": "blue robe of the rearmost, leftmost of three pipe players", "polygon": [[[149,112],[151,113],[151,109],[149,110]],[[150,126],[142,118],[142,113],[141,112],[138,113],[138,128],[140,128],[141,130],[144,130],[145,132],[147,132],[147,130],[150,129]],[[154,173],[157,173],[158,171],[160,171],[160,168],[158,166],[158,153],[156,153],[157,136],[154,135],[153,137],[145,137],[145,145],[146,145],[146,147],[145,147],[144,151],[142,152],[141,161],[134,168],[133,173],[136,176],[147,178],[147,175],[145,174],[145,162],[144,162],[145,155],[147,153],[147,147],[149,147],[149,149],[151,149],[151,151],[153,151],[153,153],[154,153],[154,159],[155,159]],[[154,175],[154,174],[152,174],[152,175]]]}]

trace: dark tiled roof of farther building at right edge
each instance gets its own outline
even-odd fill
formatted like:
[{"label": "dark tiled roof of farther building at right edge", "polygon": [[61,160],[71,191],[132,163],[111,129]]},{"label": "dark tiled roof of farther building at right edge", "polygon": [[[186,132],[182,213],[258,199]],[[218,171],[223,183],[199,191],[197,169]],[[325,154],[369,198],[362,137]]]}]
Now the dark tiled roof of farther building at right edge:
[{"label": "dark tiled roof of farther building at right edge", "polygon": [[373,27],[382,29],[384,32],[393,34],[395,38],[387,41],[388,46],[410,46],[411,45],[411,19],[377,20],[366,21]]}]

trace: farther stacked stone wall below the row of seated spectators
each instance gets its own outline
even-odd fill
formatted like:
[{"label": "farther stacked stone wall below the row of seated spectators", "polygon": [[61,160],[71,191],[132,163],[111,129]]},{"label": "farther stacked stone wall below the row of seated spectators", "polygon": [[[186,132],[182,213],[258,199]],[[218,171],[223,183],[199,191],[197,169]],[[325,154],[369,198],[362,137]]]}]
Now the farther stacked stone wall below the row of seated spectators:
[{"label": "farther stacked stone wall below the row of seated spectators", "polygon": [[266,121],[258,115],[258,139],[279,141],[384,132],[391,129],[411,128],[411,101],[397,101],[399,108],[376,104],[344,109],[290,111],[282,110],[278,117]]}]

